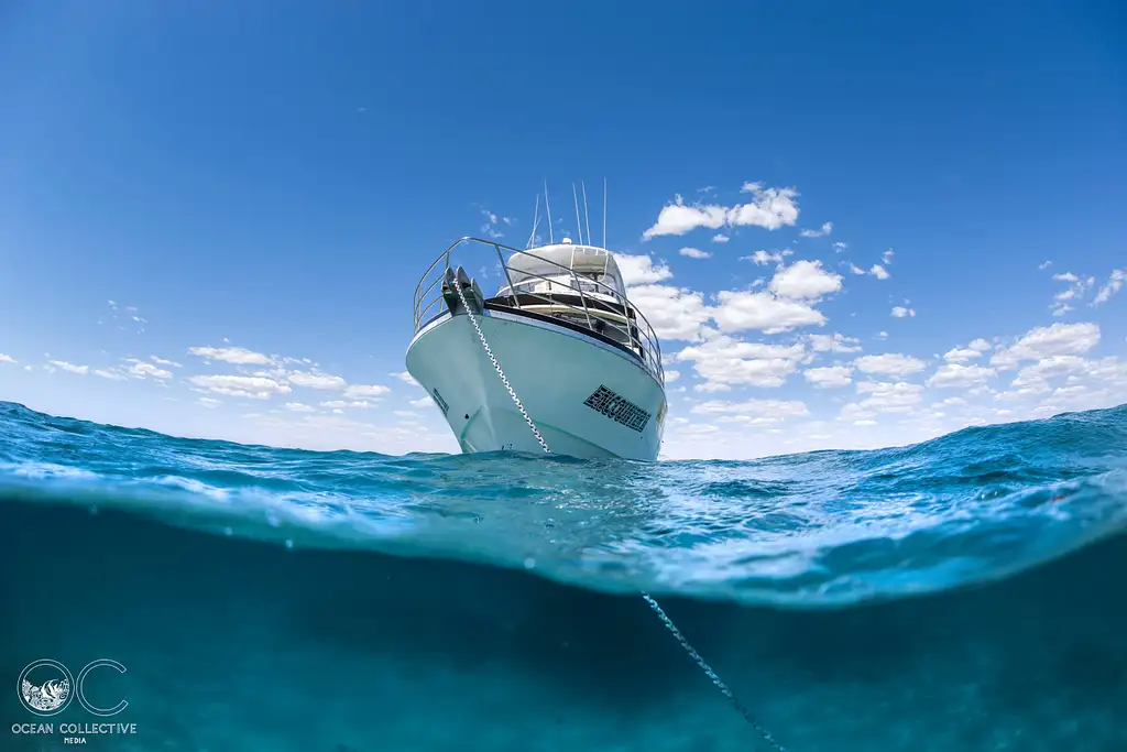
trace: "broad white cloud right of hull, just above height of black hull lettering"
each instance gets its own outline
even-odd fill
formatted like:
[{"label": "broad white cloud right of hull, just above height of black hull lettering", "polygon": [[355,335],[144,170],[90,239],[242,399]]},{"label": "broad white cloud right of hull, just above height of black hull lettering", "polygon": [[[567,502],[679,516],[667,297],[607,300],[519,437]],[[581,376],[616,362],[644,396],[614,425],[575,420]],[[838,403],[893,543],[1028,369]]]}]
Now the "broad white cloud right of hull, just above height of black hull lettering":
[{"label": "broad white cloud right of hull, just above height of black hull lettering", "polygon": [[733,384],[781,387],[805,355],[801,344],[766,345],[721,335],[685,347],[676,357],[693,363],[696,373],[706,379],[698,391],[727,391]]}]

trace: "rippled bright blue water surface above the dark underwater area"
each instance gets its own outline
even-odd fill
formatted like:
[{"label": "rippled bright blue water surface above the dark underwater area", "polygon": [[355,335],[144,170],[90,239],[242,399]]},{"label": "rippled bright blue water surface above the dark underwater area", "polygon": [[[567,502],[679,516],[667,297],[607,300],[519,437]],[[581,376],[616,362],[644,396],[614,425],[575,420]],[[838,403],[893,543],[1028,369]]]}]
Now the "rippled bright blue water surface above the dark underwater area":
[{"label": "rippled bright blue water surface above the dark underwater area", "polygon": [[1003,577],[1127,523],[1127,406],[751,462],[307,452],[0,404],[0,498],[583,587],[816,608]]}]

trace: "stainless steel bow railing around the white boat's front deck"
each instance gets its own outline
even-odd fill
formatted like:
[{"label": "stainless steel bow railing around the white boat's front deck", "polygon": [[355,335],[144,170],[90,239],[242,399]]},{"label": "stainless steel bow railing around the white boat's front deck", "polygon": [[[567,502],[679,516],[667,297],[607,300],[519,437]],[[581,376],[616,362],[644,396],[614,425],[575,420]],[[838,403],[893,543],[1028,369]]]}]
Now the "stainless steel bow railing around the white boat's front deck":
[{"label": "stainless steel bow railing around the white boat's front deck", "polygon": [[[580,319],[580,322],[585,321],[587,328],[593,331],[598,330],[595,325],[597,319],[604,330],[610,328],[618,333],[619,336],[612,336],[612,338],[637,353],[646,370],[660,383],[665,383],[665,371],[662,368],[662,346],[657,335],[654,333],[654,327],[646,320],[642,312],[627,300],[622,293],[603,282],[587,277],[584,277],[580,284],[579,275],[576,274],[575,269],[551,262],[543,256],[538,256],[530,250],[511,248],[492,240],[482,240],[472,237],[461,238],[444,250],[427,267],[419,283],[415,286],[414,316],[416,331],[431,318],[442,312],[442,282],[446,277],[446,269],[451,268],[451,255],[462,246],[472,247],[476,250],[483,249],[483,247],[491,247],[494,249],[502,273],[508,283],[506,294],[500,295],[500,298],[509,299],[513,308],[517,310],[536,310],[543,307],[549,311],[548,315],[550,316]],[[538,264],[558,267],[559,272],[556,273],[553,269],[551,276],[533,274],[525,269],[513,271],[521,275],[522,283],[527,280],[541,280],[551,283],[551,286],[559,285],[561,290],[559,292],[554,290],[548,292],[518,291],[517,286],[513,284],[508,259],[505,258],[503,251],[508,254],[509,259],[517,255],[532,256],[536,259]],[[569,277],[571,284],[566,285],[558,278],[560,276]],[[611,297],[614,303],[609,304],[606,300],[592,297],[589,291],[584,289],[584,285],[588,287],[594,286],[596,292]],[[579,299],[578,303],[574,302],[575,298]],[[534,302],[530,303],[529,299],[532,299]],[[538,310],[536,312],[541,311]]]}]

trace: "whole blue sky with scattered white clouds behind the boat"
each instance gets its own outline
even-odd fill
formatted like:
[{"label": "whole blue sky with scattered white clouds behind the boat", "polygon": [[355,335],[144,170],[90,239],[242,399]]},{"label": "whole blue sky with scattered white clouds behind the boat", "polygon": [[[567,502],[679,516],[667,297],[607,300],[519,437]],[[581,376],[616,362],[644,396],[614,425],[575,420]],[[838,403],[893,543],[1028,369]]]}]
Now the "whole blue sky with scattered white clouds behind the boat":
[{"label": "whole blue sky with scattered white clouds behind the boat", "polygon": [[1113,2],[0,2],[0,399],[452,451],[399,375],[415,284],[463,235],[523,247],[547,177],[557,238],[573,182],[593,227],[609,183],[677,374],[666,455],[1120,404],[1124,29]]}]

